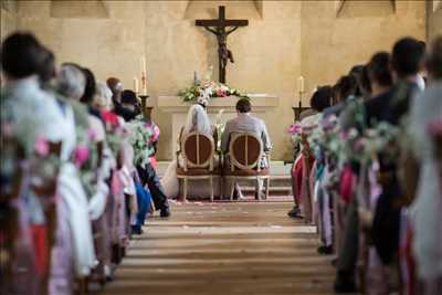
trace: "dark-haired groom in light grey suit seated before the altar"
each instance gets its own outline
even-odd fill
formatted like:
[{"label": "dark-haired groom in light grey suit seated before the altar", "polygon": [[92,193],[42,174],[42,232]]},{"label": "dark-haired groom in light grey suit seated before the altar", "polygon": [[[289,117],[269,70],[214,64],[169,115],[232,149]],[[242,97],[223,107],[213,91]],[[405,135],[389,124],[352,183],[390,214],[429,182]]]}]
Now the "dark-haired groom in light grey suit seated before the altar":
[{"label": "dark-haired groom in light grey suit seated before the altar", "polygon": [[[229,152],[230,138],[234,133],[253,133],[257,135],[264,148],[264,151],[270,151],[272,149],[272,143],[265,127],[265,123],[262,119],[253,117],[250,113],[252,112],[252,105],[248,98],[241,98],[236,103],[236,118],[229,120],[225,124],[224,133],[221,137],[221,151],[225,155]],[[227,159],[229,160],[229,159]],[[261,168],[269,168],[270,162],[267,162],[266,157],[263,156],[261,162]],[[238,196],[242,196],[241,189],[238,183],[234,183]],[[260,188],[262,186],[259,186]],[[260,190],[256,190],[255,198],[259,198]]]}]

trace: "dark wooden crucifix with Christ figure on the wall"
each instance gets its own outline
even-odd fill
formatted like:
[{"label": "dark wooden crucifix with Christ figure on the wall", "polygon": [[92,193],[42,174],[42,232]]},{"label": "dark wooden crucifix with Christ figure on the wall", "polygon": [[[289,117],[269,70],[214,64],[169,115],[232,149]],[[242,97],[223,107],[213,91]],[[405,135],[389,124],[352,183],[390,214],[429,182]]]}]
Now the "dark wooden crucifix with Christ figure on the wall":
[{"label": "dark wooden crucifix with Christ figure on the wall", "polygon": [[[228,65],[228,62],[234,62],[232,52],[228,50],[228,35],[238,28],[245,27],[248,24],[248,20],[227,20],[225,7],[219,7],[218,19],[215,20],[196,21],[196,25],[203,27],[206,30],[217,35],[220,83],[225,83],[225,66]],[[227,30],[225,28],[230,29]]]}]

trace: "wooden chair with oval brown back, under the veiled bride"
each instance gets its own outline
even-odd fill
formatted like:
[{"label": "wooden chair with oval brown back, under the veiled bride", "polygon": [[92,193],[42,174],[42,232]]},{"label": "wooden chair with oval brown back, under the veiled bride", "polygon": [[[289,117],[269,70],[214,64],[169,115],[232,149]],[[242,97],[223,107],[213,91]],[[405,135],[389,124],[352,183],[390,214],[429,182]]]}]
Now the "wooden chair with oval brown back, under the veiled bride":
[{"label": "wooden chair with oval brown back, under the veiled bride", "polygon": [[[180,167],[179,155],[183,165]],[[221,179],[220,169],[214,165],[215,146],[212,135],[189,133],[181,140],[181,150],[177,152],[177,178],[183,180],[183,200],[187,199],[189,180],[208,179],[210,201],[213,201],[213,180]]]}]

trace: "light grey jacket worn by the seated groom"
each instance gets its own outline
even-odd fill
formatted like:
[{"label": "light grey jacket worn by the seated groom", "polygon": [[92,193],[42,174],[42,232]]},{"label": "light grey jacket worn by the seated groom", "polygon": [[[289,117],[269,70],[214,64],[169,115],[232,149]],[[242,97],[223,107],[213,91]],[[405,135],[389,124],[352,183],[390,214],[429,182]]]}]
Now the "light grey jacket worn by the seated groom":
[{"label": "light grey jacket worn by the seated groom", "polygon": [[250,113],[239,113],[236,118],[225,124],[224,133],[221,138],[221,150],[224,154],[229,151],[230,137],[231,134],[234,133],[256,134],[263,143],[264,151],[270,151],[272,149],[272,143],[265,123],[262,119],[251,116]]}]

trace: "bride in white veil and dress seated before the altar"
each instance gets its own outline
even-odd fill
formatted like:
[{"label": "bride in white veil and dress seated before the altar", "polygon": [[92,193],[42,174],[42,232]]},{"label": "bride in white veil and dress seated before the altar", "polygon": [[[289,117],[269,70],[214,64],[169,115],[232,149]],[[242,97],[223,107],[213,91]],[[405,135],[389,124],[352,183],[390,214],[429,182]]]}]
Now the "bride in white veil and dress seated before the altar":
[{"label": "bride in white veil and dress seated before the altar", "polygon": [[[182,128],[181,136],[178,139],[180,145],[180,139],[189,133],[198,131],[202,134],[212,134],[212,126],[209,116],[204,109],[199,104],[192,105],[187,115],[186,125]],[[178,159],[181,164],[182,158]],[[177,159],[173,159],[166,169],[165,176],[161,178],[161,185],[165,190],[166,196],[169,198],[176,198],[179,194],[179,185],[177,178]],[[196,187],[199,187],[196,189]],[[207,186],[189,186],[189,196],[208,196],[209,187]]]}]

